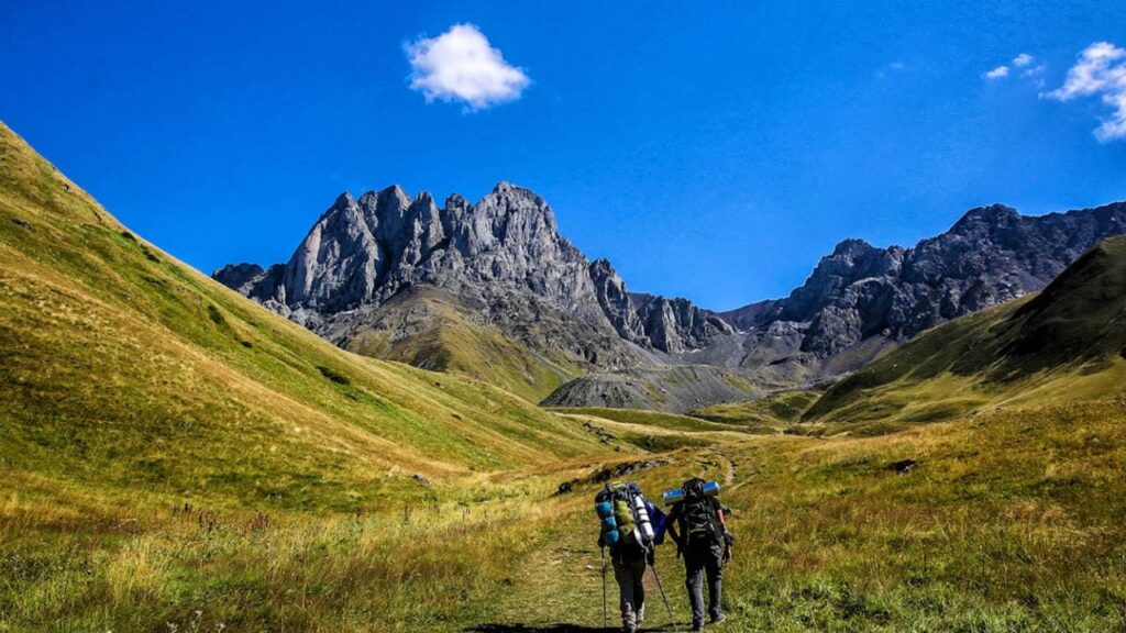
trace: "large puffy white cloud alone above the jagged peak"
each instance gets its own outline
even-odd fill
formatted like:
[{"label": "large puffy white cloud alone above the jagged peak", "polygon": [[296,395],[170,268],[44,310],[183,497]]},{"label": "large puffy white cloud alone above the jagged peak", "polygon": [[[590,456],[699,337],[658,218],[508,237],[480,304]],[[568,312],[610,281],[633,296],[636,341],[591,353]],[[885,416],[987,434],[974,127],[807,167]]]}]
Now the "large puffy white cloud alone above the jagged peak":
[{"label": "large puffy white cloud alone above the jagged peak", "polygon": [[438,37],[404,46],[411,62],[411,89],[427,101],[464,101],[470,109],[520,98],[531,81],[511,66],[472,24],[454,25]]}]

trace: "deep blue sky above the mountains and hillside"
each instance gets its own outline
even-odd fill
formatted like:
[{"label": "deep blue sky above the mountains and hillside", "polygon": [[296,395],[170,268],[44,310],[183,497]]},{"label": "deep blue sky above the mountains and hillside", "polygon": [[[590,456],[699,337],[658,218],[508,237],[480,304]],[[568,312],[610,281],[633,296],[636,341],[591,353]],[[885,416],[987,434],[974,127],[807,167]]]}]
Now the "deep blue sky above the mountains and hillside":
[{"label": "deep blue sky above the mountains and hillside", "polygon": [[[1126,139],[1096,135],[1120,60],[1064,90],[1126,2],[269,5],[7,0],[0,118],[205,271],[286,260],[342,190],[509,180],[631,289],[714,309],[848,237],[1126,198]],[[411,64],[466,24],[508,64],[468,100]]]}]

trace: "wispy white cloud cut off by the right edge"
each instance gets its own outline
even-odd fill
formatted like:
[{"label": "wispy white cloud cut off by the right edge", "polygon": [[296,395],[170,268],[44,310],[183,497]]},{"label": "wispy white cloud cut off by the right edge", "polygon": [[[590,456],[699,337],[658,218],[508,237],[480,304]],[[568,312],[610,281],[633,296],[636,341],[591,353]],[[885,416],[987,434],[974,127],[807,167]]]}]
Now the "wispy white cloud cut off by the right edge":
[{"label": "wispy white cloud cut off by the right edge", "polygon": [[1102,143],[1126,139],[1126,48],[1096,42],[1079,54],[1063,86],[1043,95],[1057,101],[1098,95],[1114,112],[1094,131]]}]

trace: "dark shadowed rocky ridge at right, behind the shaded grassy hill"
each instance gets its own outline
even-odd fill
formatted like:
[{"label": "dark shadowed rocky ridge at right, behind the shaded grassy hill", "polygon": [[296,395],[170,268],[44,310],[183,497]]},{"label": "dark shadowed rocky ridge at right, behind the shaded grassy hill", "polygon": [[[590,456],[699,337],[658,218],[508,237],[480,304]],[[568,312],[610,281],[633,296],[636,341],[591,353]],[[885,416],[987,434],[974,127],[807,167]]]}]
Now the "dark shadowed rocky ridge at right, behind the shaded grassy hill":
[{"label": "dark shadowed rocky ridge at right, behind the shaded grassy hill", "polygon": [[766,332],[786,331],[786,346],[796,337],[797,350],[780,355],[825,358],[874,337],[903,340],[1038,291],[1098,240],[1124,232],[1126,203],[1044,216],[1022,216],[1002,205],[974,208],[949,231],[911,249],[846,240],[788,297],[721,316],[754,331],[752,347],[769,348],[785,337]]}]

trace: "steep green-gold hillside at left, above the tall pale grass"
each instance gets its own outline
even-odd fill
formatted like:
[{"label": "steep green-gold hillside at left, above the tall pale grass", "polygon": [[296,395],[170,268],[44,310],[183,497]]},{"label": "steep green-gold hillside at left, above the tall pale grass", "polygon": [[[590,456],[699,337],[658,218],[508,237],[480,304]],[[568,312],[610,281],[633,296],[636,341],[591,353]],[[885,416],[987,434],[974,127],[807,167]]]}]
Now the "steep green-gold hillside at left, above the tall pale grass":
[{"label": "steep green-gold hillside at left, above the tall pale grass", "polygon": [[340,350],[133,235],[0,124],[0,479],[368,508],[606,451],[484,383]]}]

